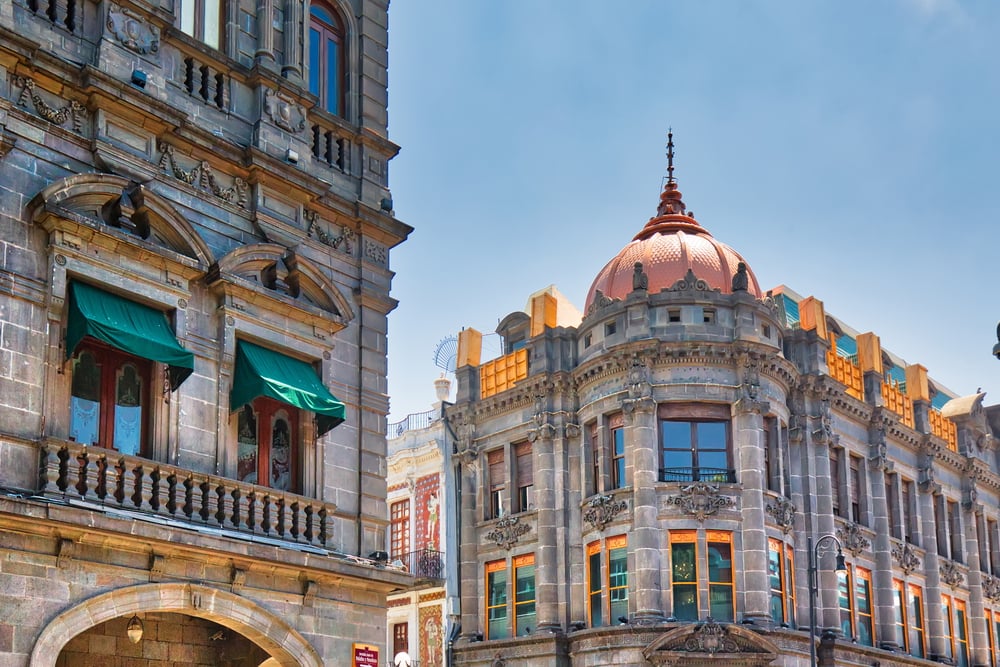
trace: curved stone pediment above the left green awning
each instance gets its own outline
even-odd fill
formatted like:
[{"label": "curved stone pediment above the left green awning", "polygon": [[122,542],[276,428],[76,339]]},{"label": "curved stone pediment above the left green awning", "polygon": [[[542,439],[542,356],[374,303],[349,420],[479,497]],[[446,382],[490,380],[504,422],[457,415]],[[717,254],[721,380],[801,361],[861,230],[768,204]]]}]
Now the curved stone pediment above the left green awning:
[{"label": "curved stone pediment above the left green awning", "polygon": [[168,249],[196,260],[202,267],[212,264],[214,257],[208,244],[191,223],[173,205],[146,185],[114,174],[75,174],[49,184],[28,205],[34,222],[46,212],[57,216],[70,215],[91,223],[101,220],[101,211],[124,193],[141,198],[142,211],[151,230]]}]

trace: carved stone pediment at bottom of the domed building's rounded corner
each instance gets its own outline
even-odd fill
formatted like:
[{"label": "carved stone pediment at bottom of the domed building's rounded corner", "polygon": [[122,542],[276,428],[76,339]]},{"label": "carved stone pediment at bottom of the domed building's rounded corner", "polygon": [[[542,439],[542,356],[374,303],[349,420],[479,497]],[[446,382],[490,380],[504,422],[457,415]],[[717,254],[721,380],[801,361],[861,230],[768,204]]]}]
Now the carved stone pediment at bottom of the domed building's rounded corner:
[{"label": "carved stone pediment at bottom of the domed building's rounded corner", "polygon": [[763,667],[777,658],[778,647],[752,630],[707,618],[668,630],[642,655],[657,667],[718,665],[723,657],[730,666]]}]

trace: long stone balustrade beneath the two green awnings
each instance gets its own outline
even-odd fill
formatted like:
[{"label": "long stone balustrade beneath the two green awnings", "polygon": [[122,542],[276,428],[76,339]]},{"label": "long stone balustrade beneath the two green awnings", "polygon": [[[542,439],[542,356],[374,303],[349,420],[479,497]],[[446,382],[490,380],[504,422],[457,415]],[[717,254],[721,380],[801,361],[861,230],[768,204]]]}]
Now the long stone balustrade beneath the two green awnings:
[{"label": "long stone balustrade beneath the two green awnings", "polygon": [[325,547],[336,506],[75,442],[42,447],[39,492],[220,530]]}]

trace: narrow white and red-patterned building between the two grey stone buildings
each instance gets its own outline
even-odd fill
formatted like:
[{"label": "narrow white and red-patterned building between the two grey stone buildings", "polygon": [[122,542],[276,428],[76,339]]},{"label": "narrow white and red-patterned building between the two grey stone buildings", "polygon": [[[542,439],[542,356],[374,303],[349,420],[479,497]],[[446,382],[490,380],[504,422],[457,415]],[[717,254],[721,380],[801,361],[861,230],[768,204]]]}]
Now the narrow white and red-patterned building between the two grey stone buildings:
[{"label": "narrow white and red-patterned building between the two grey stone buildings", "polygon": [[438,400],[430,410],[388,427],[389,562],[414,575],[412,586],[388,599],[393,667],[444,667],[458,622],[454,441],[442,409],[451,382],[442,376],[434,386]]}]

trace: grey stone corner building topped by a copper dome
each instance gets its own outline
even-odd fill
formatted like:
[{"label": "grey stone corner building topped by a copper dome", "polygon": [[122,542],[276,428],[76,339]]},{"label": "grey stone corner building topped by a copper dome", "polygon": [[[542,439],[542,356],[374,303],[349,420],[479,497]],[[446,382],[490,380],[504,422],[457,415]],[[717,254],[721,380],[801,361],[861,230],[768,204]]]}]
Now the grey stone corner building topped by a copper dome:
[{"label": "grey stone corner building topped by a copper dome", "polygon": [[503,318],[485,363],[460,336],[454,664],[809,664],[810,552],[820,664],[998,664],[982,394],[763,292],[672,168],[582,321],[557,310]]}]

